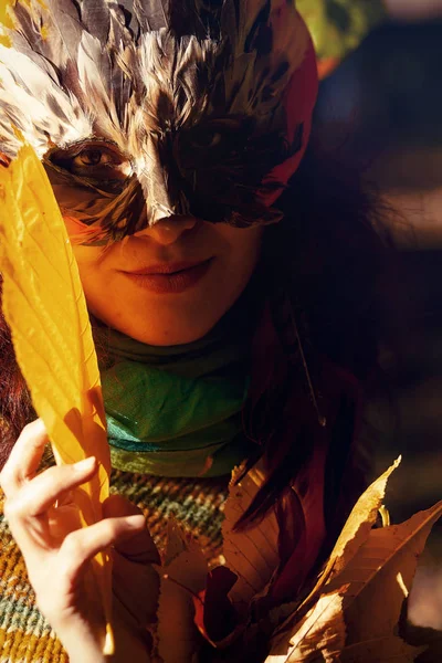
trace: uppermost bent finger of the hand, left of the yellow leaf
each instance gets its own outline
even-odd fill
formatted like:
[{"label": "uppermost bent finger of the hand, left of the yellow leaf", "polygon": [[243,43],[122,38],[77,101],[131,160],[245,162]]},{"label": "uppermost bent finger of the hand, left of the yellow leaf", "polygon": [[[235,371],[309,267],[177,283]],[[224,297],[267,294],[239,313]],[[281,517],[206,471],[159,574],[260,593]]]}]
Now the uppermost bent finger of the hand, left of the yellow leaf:
[{"label": "uppermost bent finger of the hand, left of the yellow leaf", "polygon": [[33,478],[46,442],[48,433],[41,419],[24,427],[0,473],[0,486],[7,497],[12,497],[24,483]]}]

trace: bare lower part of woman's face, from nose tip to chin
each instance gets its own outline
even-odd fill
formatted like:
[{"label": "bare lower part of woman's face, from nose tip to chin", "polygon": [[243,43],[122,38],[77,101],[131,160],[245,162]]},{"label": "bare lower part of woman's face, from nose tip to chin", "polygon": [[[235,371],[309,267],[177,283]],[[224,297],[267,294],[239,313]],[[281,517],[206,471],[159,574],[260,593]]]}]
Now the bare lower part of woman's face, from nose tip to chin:
[{"label": "bare lower part of woman's face, from nose tip to chin", "polygon": [[171,217],[105,250],[74,245],[88,308],[149,345],[197,340],[246,286],[262,232]]}]

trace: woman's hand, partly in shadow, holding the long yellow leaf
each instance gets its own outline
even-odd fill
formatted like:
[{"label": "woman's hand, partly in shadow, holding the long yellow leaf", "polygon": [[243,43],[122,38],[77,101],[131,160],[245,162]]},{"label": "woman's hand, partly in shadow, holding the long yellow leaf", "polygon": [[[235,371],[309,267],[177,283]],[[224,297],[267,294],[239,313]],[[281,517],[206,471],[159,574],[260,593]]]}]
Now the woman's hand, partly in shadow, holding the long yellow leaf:
[{"label": "woman's hand, partly in shadow, holding the long yellow leaf", "polygon": [[[56,631],[71,663],[98,663],[103,656],[103,615],[91,600],[91,560],[114,546],[115,661],[131,649],[148,661],[145,627],[155,615],[158,552],[139,509],[114,495],[103,504],[104,518],[82,528],[72,501],[97,470],[95,459],[50,467],[36,474],[48,442],[41,420],[27,425],[0,474],[4,515],[27,565],[36,604]],[[130,654],[129,654],[130,655]]]}]

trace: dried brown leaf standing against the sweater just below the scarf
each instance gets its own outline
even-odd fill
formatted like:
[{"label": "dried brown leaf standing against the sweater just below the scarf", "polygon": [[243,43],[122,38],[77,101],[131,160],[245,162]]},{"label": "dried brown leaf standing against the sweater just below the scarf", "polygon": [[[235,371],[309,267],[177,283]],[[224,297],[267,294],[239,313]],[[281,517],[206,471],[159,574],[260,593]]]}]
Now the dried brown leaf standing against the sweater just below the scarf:
[{"label": "dried brown leaf standing against the sweater just below the scarf", "polygon": [[253,597],[263,591],[280,564],[278,526],[273,511],[245,530],[234,530],[234,525],[264,481],[263,472],[259,466],[250,470],[235,485],[240,474],[241,469],[232,475],[222,527],[225,564],[238,575],[238,580],[229,593],[235,604],[249,603]]}]

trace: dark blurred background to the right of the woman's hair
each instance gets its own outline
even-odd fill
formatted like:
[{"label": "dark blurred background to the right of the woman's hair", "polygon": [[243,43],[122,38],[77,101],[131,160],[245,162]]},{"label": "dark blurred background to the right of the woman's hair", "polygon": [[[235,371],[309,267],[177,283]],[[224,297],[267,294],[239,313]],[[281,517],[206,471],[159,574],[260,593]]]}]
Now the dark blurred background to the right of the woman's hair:
[{"label": "dark blurred background to the right of the woman's hair", "polygon": [[[400,14],[400,0],[392,4]],[[375,474],[402,454],[387,497],[393,522],[442,499],[442,20],[427,11],[422,20],[419,0],[414,9],[412,0],[404,4],[407,21],[382,21],[324,78],[316,112],[330,141],[364,164],[400,212],[389,218],[407,328],[400,361],[385,366],[391,400],[380,393],[368,411]],[[442,15],[440,4],[421,0],[420,8]],[[397,293],[385,284],[387,318]],[[411,599],[412,618],[442,630],[442,523]]]}]

